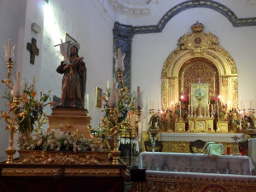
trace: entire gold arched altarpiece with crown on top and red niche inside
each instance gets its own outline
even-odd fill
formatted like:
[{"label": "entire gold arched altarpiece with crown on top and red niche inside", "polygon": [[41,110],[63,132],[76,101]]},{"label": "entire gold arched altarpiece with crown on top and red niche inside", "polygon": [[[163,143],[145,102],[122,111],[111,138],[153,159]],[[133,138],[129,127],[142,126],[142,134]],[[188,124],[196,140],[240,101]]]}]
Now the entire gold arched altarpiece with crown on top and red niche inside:
[{"label": "entire gold arched altarpiece with crown on top and red niche inside", "polygon": [[[188,113],[188,118],[184,121],[189,124],[189,129],[186,128],[183,131],[196,131],[195,127],[203,127],[197,131],[213,131],[213,129],[221,131],[219,129],[221,127],[222,131],[226,132],[228,131],[227,122],[219,120],[220,112],[224,111],[223,107],[227,111],[238,106],[235,61],[225,49],[218,45],[218,38],[215,35],[211,32],[203,33],[204,26],[201,23],[195,23],[191,29],[192,34],[187,32],[178,39],[178,47],[167,57],[162,68],[162,108],[175,111],[175,106],[181,103],[182,111]],[[194,106],[190,104],[191,99],[196,99],[192,96],[193,84],[201,84],[202,89],[205,89],[203,84],[208,86],[208,91],[205,93],[207,100],[196,102]],[[201,94],[200,90],[198,94]],[[214,100],[218,96],[221,96],[221,99],[218,100],[217,106]],[[217,108],[219,114],[217,114]],[[214,121],[215,114],[218,118]]]}]

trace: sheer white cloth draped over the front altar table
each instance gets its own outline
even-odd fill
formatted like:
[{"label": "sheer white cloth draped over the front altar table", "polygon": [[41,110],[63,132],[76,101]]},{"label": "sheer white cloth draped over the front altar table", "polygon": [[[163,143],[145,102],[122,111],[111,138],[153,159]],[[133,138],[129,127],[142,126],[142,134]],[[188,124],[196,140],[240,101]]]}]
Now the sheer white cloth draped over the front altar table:
[{"label": "sheer white cloth draped over the front altar table", "polygon": [[201,172],[252,175],[254,168],[247,156],[143,152],[137,157],[137,166],[148,171]]}]

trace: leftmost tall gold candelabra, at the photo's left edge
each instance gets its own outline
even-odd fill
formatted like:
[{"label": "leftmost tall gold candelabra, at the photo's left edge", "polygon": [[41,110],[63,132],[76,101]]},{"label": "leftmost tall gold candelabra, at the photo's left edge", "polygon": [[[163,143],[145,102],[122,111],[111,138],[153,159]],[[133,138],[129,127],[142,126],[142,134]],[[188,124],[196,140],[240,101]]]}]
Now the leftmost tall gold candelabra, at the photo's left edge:
[{"label": "leftmost tall gold candelabra, at the photo's left edge", "polygon": [[[14,66],[14,63],[11,60],[11,58],[9,58],[9,61],[7,61],[7,67],[8,67],[7,79],[2,80],[2,83],[6,84],[11,90],[13,90],[14,86],[12,87],[10,85],[11,80],[9,79],[9,77],[12,74],[13,66]],[[18,79],[19,78],[20,77],[18,75]],[[18,79],[17,79],[17,86],[20,86],[20,84],[18,84],[20,83]],[[20,94],[15,93],[15,90],[12,91],[12,94],[13,94],[13,102],[8,104],[9,111],[6,113],[1,111],[1,117],[0,117],[0,119],[2,118],[5,119],[5,122],[8,124],[6,126],[6,129],[9,130],[9,148],[5,149],[5,153],[8,155],[7,161],[6,161],[7,164],[13,163],[13,156],[16,153],[16,149],[13,147],[15,143],[14,141],[15,131],[17,130],[17,125],[19,125],[24,120],[26,115],[26,112],[15,113],[16,109],[20,104]]]}]

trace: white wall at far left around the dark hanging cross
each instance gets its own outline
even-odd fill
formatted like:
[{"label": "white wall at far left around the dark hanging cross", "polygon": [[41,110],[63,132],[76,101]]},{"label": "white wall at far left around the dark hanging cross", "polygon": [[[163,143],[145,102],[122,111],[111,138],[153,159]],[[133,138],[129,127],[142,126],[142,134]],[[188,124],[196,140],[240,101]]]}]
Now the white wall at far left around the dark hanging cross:
[{"label": "white wall at far left around the dark hanging cross", "polygon": [[[20,71],[22,77],[26,77],[28,81],[32,80],[32,75],[37,75],[40,70],[40,55],[36,58],[35,65],[29,63],[30,54],[26,50],[26,43],[31,42],[32,37],[37,38],[38,47],[40,48],[42,42],[42,33],[36,34],[31,30],[32,22],[43,24],[42,6],[44,0],[34,1],[20,1],[20,0],[3,0],[0,1],[0,44],[7,43],[7,39],[11,38],[15,44],[15,62],[14,71],[11,80],[15,77],[17,71]],[[42,26],[43,27],[43,26]],[[3,59],[3,48],[0,49],[0,78],[7,77],[7,67]],[[0,84],[0,109],[6,112],[8,108],[4,106],[6,100],[3,99],[4,92],[10,91],[5,84]],[[8,147],[9,131],[5,130],[6,123],[3,119],[0,121],[0,160],[6,160],[4,149]],[[16,138],[16,137],[15,137]],[[15,147],[16,148],[16,147]]]}]

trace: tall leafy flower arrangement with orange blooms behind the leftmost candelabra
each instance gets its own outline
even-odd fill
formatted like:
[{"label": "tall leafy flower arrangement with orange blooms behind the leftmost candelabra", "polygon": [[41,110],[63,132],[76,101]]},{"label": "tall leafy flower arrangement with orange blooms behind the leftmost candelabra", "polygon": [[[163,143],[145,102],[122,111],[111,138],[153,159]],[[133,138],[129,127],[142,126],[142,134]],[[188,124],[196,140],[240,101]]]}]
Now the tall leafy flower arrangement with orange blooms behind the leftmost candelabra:
[{"label": "tall leafy flower arrangement with orange blooms behind the leftmost candelabra", "polygon": [[[20,96],[20,104],[15,110],[15,114],[26,112],[25,119],[19,124],[18,128],[21,134],[31,133],[34,130],[35,125],[39,129],[42,125],[47,123],[47,118],[43,112],[43,109],[47,105],[54,105],[54,102],[49,102],[49,94],[50,90],[46,94],[41,92],[38,99],[36,97],[37,91],[33,89],[33,86],[25,85],[25,88]],[[6,96],[3,97],[9,101],[7,102],[7,105],[10,106],[13,102],[13,96],[11,93],[6,93]],[[17,121],[20,121],[20,119],[21,118],[18,118]]]}]

